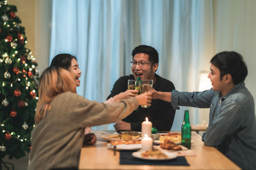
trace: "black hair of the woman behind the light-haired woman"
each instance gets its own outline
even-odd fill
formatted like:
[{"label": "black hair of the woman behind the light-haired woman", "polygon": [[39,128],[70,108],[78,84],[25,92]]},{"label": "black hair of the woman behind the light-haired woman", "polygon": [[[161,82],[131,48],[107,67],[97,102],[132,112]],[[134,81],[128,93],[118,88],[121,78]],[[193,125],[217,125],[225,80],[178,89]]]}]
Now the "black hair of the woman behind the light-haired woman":
[{"label": "black hair of the woman behind the light-haired woman", "polygon": [[50,67],[61,67],[63,69],[69,69],[72,59],[77,60],[75,56],[70,55],[69,53],[60,53],[52,59]]}]

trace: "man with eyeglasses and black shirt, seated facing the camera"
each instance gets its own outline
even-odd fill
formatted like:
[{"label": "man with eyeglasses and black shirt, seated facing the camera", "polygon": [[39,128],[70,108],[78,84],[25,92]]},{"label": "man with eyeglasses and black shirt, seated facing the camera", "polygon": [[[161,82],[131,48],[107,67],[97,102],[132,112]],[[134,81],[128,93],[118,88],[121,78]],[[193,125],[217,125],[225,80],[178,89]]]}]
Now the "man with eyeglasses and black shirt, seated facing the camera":
[{"label": "man with eyeglasses and black shirt, seated facing the camera", "polygon": [[[122,76],[116,80],[108,99],[114,102],[120,99],[136,96],[137,90],[127,90],[128,80],[153,80],[153,88],[161,92],[172,92],[175,89],[173,83],[156,74],[158,68],[158,53],[155,48],[147,45],[140,45],[132,50],[131,69],[132,74]],[[152,122],[152,127],[158,131],[170,131],[175,117],[175,110],[172,104],[159,99],[152,100],[149,108],[135,110],[131,115],[116,122],[116,131],[141,131],[141,122],[148,118]]]}]

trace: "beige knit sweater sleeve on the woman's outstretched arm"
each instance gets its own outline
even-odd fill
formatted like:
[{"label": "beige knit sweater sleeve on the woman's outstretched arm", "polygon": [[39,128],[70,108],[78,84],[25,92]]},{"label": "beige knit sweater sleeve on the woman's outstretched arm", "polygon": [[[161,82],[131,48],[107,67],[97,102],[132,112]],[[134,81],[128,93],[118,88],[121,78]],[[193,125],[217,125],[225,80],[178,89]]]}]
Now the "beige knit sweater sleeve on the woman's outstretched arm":
[{"label": "beige knit sweater sleeve on the woman's outstretched arm", "polygon": [[72,120],[80,127],[114,123],[122,120],[138,108],[135,97],[124,99],[118,103],[104,104],[89,101],[72,92],[65,92],[52,101],[51,112],[68,113],[67,121]]}]

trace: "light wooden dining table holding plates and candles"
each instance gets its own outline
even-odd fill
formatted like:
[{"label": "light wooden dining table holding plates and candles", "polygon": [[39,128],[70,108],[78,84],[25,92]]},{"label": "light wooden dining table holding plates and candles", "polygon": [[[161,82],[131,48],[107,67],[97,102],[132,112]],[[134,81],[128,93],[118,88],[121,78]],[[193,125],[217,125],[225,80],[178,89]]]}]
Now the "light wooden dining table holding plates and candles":
[{"label": "light wooden dining table holding plates and candles", "polygon": [[92,131],[97,136],[95,145],[86,145],[81,149],[79,169],[240,169],[234,162],[225,157],[214,147],[205,146],[201,136],[191,132],[193,156],[186,156],[189,166],[160,166],[160,165],[120,165],[120,152],[108,148],[108,141],[100,138],[103,134],[115,131]]}]

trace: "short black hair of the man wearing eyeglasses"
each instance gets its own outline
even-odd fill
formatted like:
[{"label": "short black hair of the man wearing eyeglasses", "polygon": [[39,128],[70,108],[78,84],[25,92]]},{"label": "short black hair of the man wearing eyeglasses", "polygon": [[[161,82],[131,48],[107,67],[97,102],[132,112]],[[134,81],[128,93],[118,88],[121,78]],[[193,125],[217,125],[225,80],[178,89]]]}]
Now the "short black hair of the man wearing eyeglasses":
[{"label": "short black hair of the man wearing eyeglasses", "polygon": [[134,57],[134,55],[136,55],[137,53],[147,53],[148,55],[148,60],[152,63],[152,64],[158,64],[159,62],[159,58],[158,58],[158,52],[155,48],[153,48],[152,46],[148,46],[148,45],[139,45],[136,46],[134,48],[134,50],[132,50],[132,59]]}]

